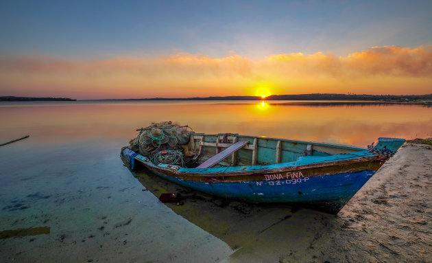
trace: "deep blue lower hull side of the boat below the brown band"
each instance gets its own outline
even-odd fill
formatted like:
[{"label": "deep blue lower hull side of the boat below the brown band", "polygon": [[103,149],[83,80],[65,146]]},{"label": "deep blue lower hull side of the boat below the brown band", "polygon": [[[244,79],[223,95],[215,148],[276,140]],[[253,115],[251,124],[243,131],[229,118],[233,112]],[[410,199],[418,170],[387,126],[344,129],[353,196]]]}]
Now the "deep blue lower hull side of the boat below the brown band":
[{"label": "deep blue lower hull side of the boat below the brown band", "polygon": [[344,207],[374,173],[365,170],[297,179],[205,183],[156,172],[168,181],[215,196],[254,203],[325,203],[328,210],[336,212]]}]

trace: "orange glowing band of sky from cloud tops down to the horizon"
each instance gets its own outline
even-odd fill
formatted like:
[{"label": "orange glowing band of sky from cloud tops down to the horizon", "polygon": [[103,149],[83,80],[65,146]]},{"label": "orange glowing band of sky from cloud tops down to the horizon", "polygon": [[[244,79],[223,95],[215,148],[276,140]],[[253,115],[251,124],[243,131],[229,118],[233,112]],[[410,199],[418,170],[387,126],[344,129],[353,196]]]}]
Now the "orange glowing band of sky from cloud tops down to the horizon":
[{"label": "orange glowing band of sky from cloud tops down to the horizon", "polygon": [[276,54],[262,60],[193,54],[109,60],[0,58],[0,95],[254,95],[252,89],[263,83],[269,93],[431,93],[432,46],[372,47],[344,57]]}]

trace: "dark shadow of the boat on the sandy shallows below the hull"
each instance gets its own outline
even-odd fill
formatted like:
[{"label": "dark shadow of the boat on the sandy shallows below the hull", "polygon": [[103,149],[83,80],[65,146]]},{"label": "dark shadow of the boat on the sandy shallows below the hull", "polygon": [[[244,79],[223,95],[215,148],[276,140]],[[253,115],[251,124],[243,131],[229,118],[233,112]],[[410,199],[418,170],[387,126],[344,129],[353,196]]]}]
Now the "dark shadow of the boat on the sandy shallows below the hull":
[{"label": "dark shadow of the boat on the sandy shallows below the hull", "polygon": [[[290,237],[291,240],[291,237],[298,235],[299,229],[311,227],[309,223],[313,223],[317,218],[335,218],[333,215],[303,207],[280,203],[245,203],[211,196],[166,181],[149,171],[134,172],[134,176],[139,179],[145,190],[154,194],[156,198],[161,194],[176,193],[177,201],[165,205],[197,227],[220,238],[232,249],[250,247],[251,243],[259,241],[258,237],[265,235],[269,229],[279,229],[277,232],[280,238]],[[267,245],[275,242],[265,240]]]}]

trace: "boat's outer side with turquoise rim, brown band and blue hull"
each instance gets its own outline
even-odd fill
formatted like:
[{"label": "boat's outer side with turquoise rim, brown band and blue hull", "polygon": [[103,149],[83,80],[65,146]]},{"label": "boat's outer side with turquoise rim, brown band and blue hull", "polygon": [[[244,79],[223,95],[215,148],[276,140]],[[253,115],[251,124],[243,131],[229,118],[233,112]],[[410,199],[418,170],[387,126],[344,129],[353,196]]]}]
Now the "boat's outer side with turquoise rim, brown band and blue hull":
[{"label": "boat's outer side with turquoise rim, brown band and blue hull", "polygon": [[141,164],[168,181],[214,196],[254,203],[302,203],[332,214],[389,158],[360,150],[331,157],[300,157],[290,163],[201,169],[154,165],[128,149],[121,155],[130,168]]}]

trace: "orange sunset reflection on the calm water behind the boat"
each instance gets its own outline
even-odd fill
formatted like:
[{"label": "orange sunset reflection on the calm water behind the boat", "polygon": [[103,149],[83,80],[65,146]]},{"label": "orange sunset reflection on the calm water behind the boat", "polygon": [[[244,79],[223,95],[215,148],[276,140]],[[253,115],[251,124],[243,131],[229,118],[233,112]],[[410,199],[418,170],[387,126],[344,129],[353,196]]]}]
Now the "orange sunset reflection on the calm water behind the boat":
[{"label": "orange sunset reflection on the calm water behind the boat", "polygon": [[287,102],[76,102],[0,104],[0,138],[32,142],[131,139],[171,120],[198,133],[239,133],[365,146],[377,137],[427,137],[432,108],[400,104],[311,106]]}]

